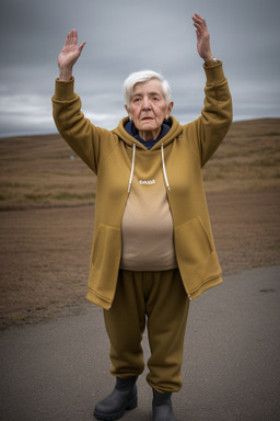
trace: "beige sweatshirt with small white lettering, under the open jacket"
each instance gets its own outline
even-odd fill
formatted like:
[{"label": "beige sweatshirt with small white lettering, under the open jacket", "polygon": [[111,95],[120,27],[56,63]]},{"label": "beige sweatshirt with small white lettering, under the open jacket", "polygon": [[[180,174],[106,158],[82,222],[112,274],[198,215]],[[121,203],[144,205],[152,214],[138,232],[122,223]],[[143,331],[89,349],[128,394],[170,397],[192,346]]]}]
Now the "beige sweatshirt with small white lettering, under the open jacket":
[{"label": "beige sweatshirt with small white lettering, under the open jacket", "polygon": [[138,151],[121,224],[120,268],[130,271],[176,268],[173,230],[161,155]]}]

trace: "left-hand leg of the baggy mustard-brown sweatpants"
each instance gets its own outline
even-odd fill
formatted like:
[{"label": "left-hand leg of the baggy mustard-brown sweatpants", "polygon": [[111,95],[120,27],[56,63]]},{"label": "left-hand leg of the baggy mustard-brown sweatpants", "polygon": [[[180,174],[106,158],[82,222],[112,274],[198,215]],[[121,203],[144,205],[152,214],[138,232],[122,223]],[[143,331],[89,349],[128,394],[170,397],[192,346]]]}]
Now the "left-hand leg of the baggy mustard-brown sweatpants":
[{"label": "left-hand leg of the baggy mustard-brown sweatpants", "polygon": [[110,373],[118,377],[140,375],[144,369],[142,334],[145,309],[142,272],[120,271],[116,295],[104,320],[110,341]]}]

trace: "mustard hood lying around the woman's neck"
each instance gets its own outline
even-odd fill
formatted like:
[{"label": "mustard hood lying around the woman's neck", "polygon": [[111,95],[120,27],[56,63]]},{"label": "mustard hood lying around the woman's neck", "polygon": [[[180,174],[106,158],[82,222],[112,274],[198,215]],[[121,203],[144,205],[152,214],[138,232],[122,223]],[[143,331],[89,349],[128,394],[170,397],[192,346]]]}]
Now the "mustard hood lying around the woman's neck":
[{"label": "mustard hood lying around the woman's neck", "polygon": [[[170,117],[170,121],[172,123],[170,130],[166,133],[166,135],[159,140],[150,150],[156,150],[161,149],[161,146],[163,145],[164,147],[171,144],[183,130],[182,125],[177,122],[177,120],[174,116]],[[125,144],[129,146],[136,145],[140,149],[145,149],[145,147],[137,140],[132,134],[130,135],[126,130],[126,125],[129,122],[128,117],[122,118],[118,126],[114,128],[112,132],[118,136],[119,139],[121,139]]]}]

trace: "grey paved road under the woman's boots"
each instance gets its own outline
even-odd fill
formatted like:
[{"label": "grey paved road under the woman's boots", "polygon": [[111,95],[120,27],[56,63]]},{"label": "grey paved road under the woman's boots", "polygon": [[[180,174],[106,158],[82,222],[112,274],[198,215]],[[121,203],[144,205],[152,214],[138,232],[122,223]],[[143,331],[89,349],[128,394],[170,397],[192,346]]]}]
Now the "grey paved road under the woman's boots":
[{"label": "grey paved road under the woman's boots", "polygon": [[[280,266],[226,276],[191,303],[177,421],[280,420]],[[1,421],[90,421],[114,385],[102,310],[0,332]],[[143,340],[149,353],[147,337]],[[151,391],[124,420],[151,420]]]}]

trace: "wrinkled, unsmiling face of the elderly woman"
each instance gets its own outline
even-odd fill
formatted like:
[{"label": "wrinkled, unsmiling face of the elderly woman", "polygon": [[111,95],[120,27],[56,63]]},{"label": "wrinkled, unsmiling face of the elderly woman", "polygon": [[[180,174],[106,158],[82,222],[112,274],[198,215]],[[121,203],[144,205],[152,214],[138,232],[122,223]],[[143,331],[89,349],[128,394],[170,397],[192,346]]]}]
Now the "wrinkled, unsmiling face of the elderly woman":
[{"label": "wrinkled, unsmiling face of the elderly woman", "polygon": [[156,139],[162,123],[168,118],[172,109],[173,102],[166,104],[162,84],[158,79],[136,83],[129,106],[126,105],[139,135],[144,140]]}]

